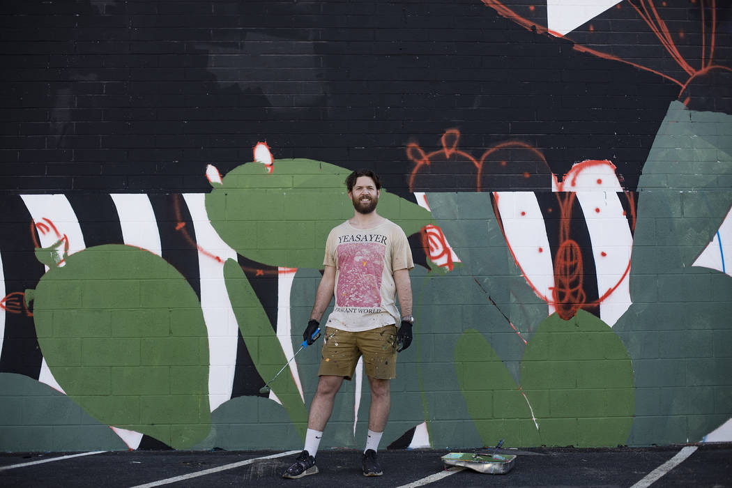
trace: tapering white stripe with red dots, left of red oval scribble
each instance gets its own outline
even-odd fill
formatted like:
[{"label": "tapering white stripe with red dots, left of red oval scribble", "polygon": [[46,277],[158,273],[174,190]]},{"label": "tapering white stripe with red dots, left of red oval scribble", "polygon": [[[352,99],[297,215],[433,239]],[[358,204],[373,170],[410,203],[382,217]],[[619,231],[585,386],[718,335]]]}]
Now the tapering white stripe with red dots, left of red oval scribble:
[{"label": "tapering white stripe with red dots, left of red oval scribble", "polygon": [[554,266],[544,216],[534,192],[495,192],[509,248],[523,276],[539,298],[549,304],[547,315],[555,311],[551,305]]}]

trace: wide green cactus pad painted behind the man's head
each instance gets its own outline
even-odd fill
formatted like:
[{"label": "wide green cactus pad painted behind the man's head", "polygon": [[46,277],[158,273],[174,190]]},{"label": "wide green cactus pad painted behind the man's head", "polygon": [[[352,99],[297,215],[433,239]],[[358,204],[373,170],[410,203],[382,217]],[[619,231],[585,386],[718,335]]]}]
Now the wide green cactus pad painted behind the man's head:
[{"label": "wide green cactus pad painted behind the man's head", "polygon": [[[321,269],[329,231],[354,214],[351,170],[313,159],[277,159],[272,174],[250,162],[212,184],[206,213],[221,239],[258,263]],[[409,236],[430,221],[416,203],[381,189],[378,212]]]}]

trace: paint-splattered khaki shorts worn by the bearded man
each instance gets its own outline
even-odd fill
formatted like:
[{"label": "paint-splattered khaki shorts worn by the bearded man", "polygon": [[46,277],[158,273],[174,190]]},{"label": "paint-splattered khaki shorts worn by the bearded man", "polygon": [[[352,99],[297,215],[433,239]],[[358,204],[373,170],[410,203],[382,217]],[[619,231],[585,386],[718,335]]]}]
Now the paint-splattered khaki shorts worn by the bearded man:
[{"label": "paint-splattered khaki shorts worn by the bearded man", "polygon": [[366,374],[378,380],[397,378],[397,326],[361,332],[325,328],[318,376],[353,378],[359,357],[364,356]]}]

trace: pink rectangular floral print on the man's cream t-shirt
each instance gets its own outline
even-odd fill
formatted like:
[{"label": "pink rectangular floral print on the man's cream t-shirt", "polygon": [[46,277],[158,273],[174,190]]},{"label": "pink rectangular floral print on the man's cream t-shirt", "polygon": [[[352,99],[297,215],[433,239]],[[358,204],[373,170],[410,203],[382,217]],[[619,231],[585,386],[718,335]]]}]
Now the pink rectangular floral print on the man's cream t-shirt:
[{"label": "pink rectangular floral print on the man's cream t-shirt", "polygon": [[340,276],[336,307],[380,307],[386,246],[376,242],[348,243],[340,244],[337,252]]}]

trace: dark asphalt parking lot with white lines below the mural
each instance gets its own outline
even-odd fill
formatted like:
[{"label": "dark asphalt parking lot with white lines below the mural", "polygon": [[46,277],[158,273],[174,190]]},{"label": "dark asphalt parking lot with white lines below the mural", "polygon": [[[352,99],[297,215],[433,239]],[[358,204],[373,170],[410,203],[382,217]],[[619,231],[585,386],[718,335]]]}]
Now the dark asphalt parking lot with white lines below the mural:
[{"label": "dark asphalt parking lot with white lines below the mural", "polygon": [[498,449],[499,454],[517,455],[514,467],[501,475],[445,470],[441,456],[447,452],[379,451],[384,476],[365,478],[360,451],[326,449],[318,451],[320,473],[297,480],[281,477],[296,451],[0,453],[0,486],[732,487],[732,443]]}]

